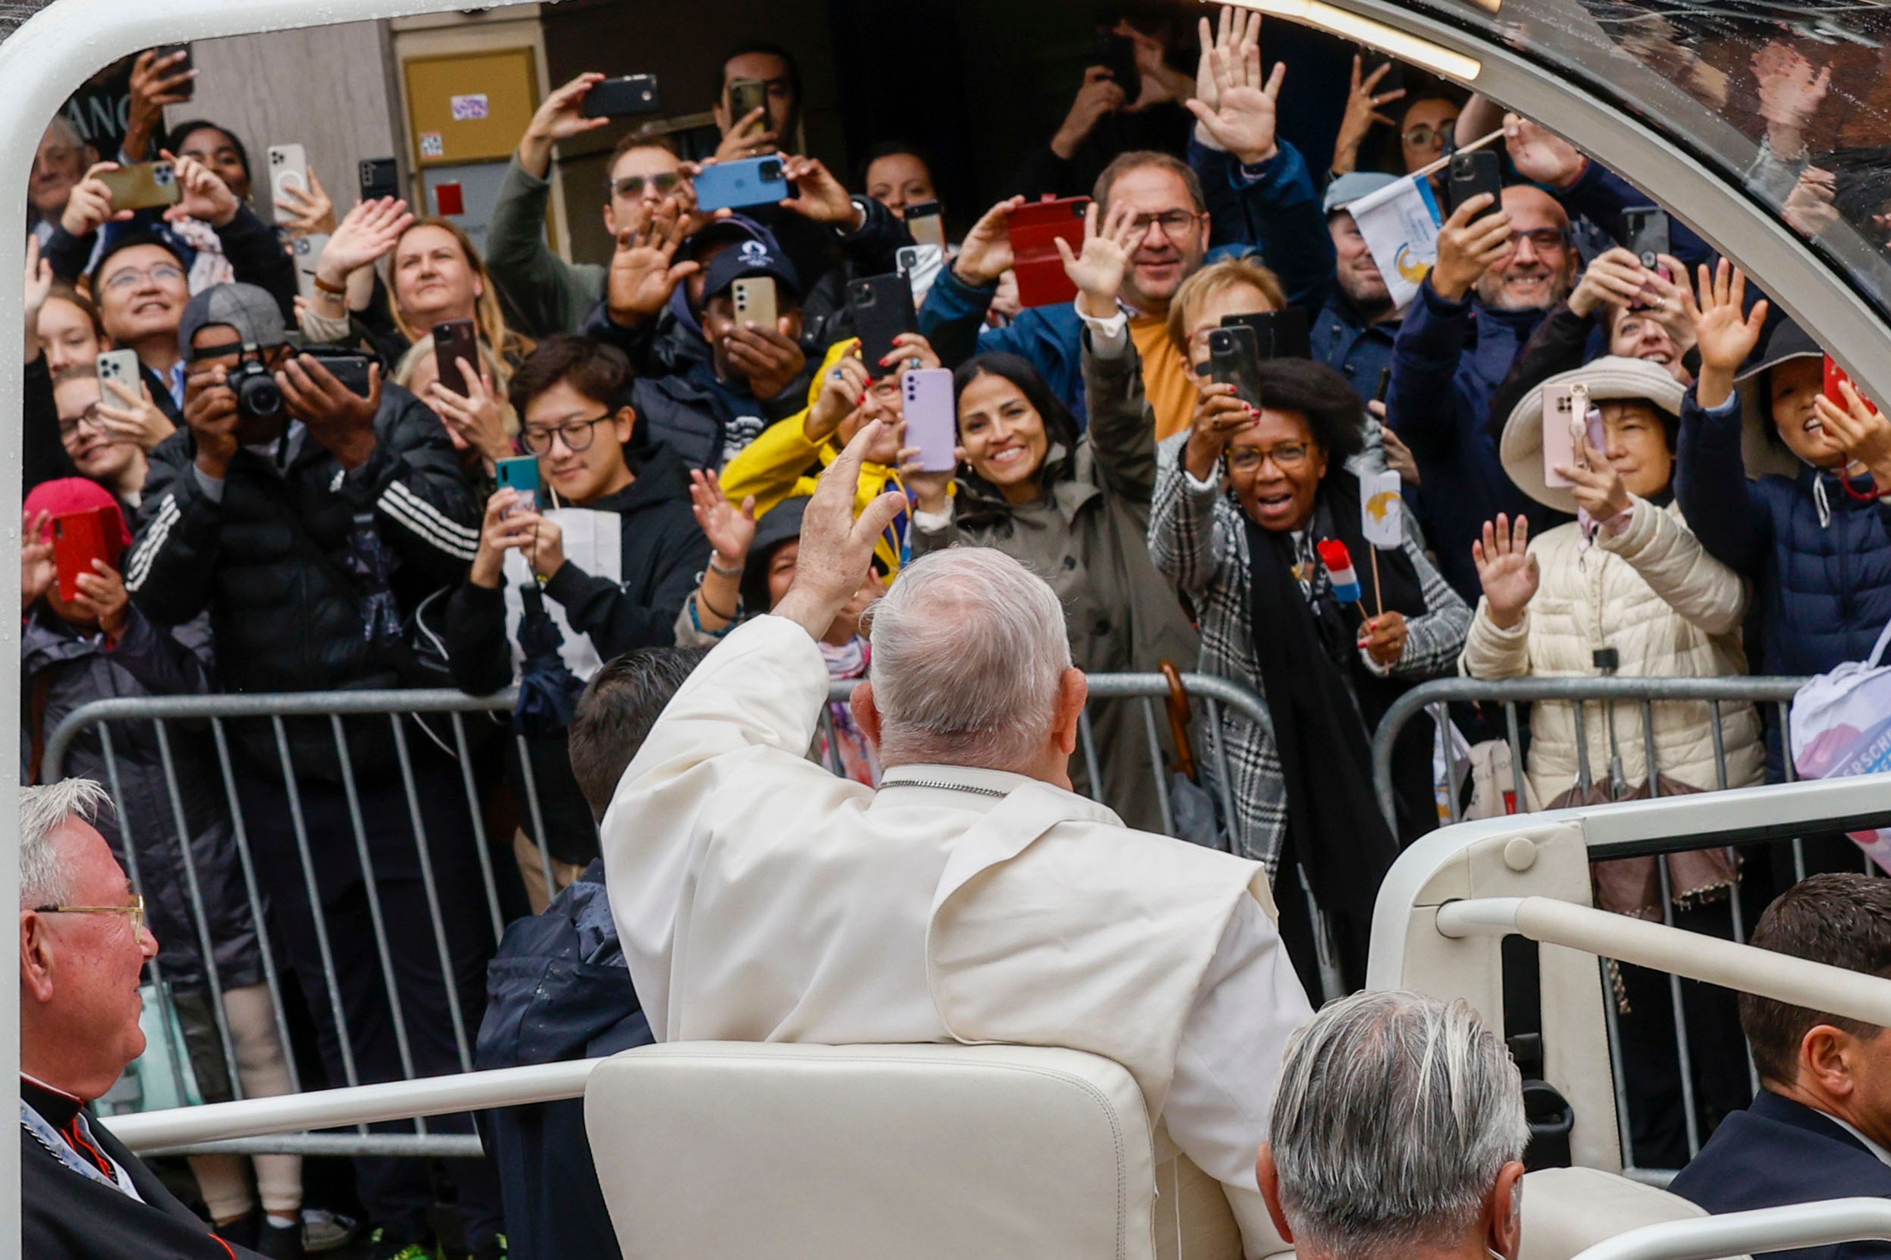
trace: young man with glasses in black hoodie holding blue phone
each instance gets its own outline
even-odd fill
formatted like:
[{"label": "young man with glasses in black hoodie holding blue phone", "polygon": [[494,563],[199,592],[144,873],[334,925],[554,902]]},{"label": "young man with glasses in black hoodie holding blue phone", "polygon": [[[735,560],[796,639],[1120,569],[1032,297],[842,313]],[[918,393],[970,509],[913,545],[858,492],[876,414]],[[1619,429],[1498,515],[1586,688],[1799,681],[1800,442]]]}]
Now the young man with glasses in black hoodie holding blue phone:
[{"label": "young man with glasses in black hoodie holding blue phone", "polygon": [[[501,487],[486,501],[478,552],[444,618],[461,690],[484,695],[565,671],[552,686],[588,682],[603,661],[675,642],[683,601],[717,561],[690,508],[688,468],[645,438],[630,378],[620,351],[571,334],[541,342],[512,374],[518,442],[539,459],[539,491]],[[567,720],[522,716],[529,790],[518,756],[507,759],[520,799],[539,803],[512,839],[533,909],[598,856]]]}]

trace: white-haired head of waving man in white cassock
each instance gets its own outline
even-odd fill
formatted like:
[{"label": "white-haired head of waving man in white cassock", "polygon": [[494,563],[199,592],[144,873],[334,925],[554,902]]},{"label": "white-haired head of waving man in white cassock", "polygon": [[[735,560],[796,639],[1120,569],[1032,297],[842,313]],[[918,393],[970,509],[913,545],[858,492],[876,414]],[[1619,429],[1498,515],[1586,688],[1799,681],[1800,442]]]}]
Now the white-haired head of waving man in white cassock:
[{"label": "white-haired head of waving man in white cassock", "polygon": [[887,765],[1036,759],[1070,669],[1063,603],[1044,578],[993,548],[947,548],[902,569],[870,618]]}]

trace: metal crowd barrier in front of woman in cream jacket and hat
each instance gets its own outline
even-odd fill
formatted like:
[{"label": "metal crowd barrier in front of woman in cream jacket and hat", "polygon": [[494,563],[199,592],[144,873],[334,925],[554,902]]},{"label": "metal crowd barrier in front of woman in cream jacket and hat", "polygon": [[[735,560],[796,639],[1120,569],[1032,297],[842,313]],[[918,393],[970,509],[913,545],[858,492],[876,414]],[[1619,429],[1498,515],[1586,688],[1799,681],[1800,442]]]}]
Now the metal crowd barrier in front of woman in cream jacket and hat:
[{"label": "metal crowd barrier in front of woman in cream jacket and hat", "polygon": [[[1418,712],[1430,712],[1439,729],[1445,729],[1449,722],[1447,705],[1450,703],[1483,703],[1483,705],[1501,705],[1503,712],[1503,739],[1509,744],[1511,754],[1511,775],[1513,782],[1503,784],[1515,790],[1515,801],[1520,805],[1524,797],[1524,778],[1526,778],[1526,756],[1522,748],[1522,727],[1518,720],[1518,705],[1539,703],[1539,701],[1558,701],[1570,703],[1575,720],[1575,739],[1577,739],[1577,786],[1587,795],[1590,790],[1590,718],[1596,707],[1604,707],[1605,714],[1613,714],[1615,708],[1632,710],[1639,724],[1641,744],[1647,754],[1647,763],[1641,767],[1628,767],[1628,773],[1643,778],[1649,784],[1649,797],[1660,795],[1660,767],[1657,763],[1657,748],[1653,739],[1655,725],[1655,705],[1666,701],[1679,703],[1702,703],[1708,707],[1708,722],[1711,722],[1713,735],[1713,761],[1715,761],[1715,788],[1728,788],[1726,775],[1726,744],[1723,739],[1723,708],[1726,705],[1747,703],[1761,708],[1762,714],[1770,708],[1779,729],[1781,746],[1785,746],[1787,720],[1791,714],[1793,695],[1804,686],[1804,678],[1503,678],[1503,680],[1479,680],[1479,678],[1439,678],[1435,682],[1426,682],[1413,688],[1401,695],[1392,708],[1386,710],[1377,733],[1373,735],[1373,790],[1379,795],[1380,810],[1392,818],[1394,809],[1394,788],[1392,788],[1392,746],[1399,737],[1405,724]],[[1611,722],[1613,716],[1605,716]],[[1605,735],[1602,737],[1605,739]],[[1452,741],[1445,739],[1445,758],[1447,758],[1447,782],[1456,784],[1458,761]],[[1793,759],[1783,758],[1785,780],[1793,782]],[[1450,822],[1460,822],[1460,801],[1458,792],[1449,790],[1447,810]],[[1694,797],[1689,797],[1694,799]],[[1549,805],[1543,801],[1541,805]],[[1607,809],[1607,807],[1604,807]],[[1806,877],[1806,850],[1800,835],[1774,837],[1770,843],[1787,843],[1793,854],[1793,873],[1795,878]],[[1674,854],[1692,848],[1715,848],[1723,844],[1715,837],[1639,837],[1636,841],[1605,843],[1590,848],[1590,858],[1596,861],[1609,858],[1628,858],[1628,856],[1653,856],[1653,854]],[[1753,841],[1749,841],[1753,843]],[[1859,865],[1865,873],[1874,873],[1876,867],[1868,858],[1859,854]],[[1658,886],[1662,899],[1662,922],[1675,926],[1674,897],[1668,882],[1668,867],[1660,863]],[[1747,939],[1747,924],[1742,909],[1740,894],[1740,873],[1736,869],[1734,886],[1726,895],[1726,939],[1734,943],[1744,943]],[[1687,1135],[1687,1150],[1692,1156],[1700,1150],[1702,1141],[1706,1141],[1706,1124],[1700,1111],[1700,1099],[1694,1096],[1694,1047],[1689,1041],[1687,1030],[1687,1009],[1681,992],[1679,977],[1668,977],[1668,1001],[1674,1011],[1674,1039],[1675,1039],[1675,1071],[1681,1090],[1681,1109]],[[1621,1028],[1617,1018],[1615,1001],[1607,1003],[1607,1031],[1611,1054],[1617,1064],[1617,1092],[1622,1094],[1622,1077],[1634,1075],[1638,1064],[1630,1064],[1621,1052]],[[1719,1047],[1726,1052],[1726,1047]],[[1647,1069],[1649,1065],[1639,1065]],[[1759,1073],[1753,1069],[1751,1056],[1745,1062],[1745,1073],[1749,1084],[1759,1090]],[[1622,1124],[1626,1126],[1626,1094],[1619,1101],[1622,1109]],[[1666,1183],[1677,1169],[1647,1169],[1636,1167],[1634,1150],[1626,1141],[1622,1143],[1622,1162],[1624,1167],[1657,1184]]]}]

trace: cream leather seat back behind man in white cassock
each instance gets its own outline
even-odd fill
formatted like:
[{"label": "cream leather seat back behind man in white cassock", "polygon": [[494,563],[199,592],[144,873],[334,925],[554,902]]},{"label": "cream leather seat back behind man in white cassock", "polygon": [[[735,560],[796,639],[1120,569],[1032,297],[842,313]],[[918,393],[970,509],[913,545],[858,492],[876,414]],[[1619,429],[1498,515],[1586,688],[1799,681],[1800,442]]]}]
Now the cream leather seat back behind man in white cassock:
[{"label": "cream leather seat back behind man in white cassock", "polygon": [[1189,1260],[1240,1256],[1220,1186],[1157,1167],[1135,1081],[1078,1050],[643,1047],[584,1126],[626,1260],[1155,1260],[1176,1201]]}]

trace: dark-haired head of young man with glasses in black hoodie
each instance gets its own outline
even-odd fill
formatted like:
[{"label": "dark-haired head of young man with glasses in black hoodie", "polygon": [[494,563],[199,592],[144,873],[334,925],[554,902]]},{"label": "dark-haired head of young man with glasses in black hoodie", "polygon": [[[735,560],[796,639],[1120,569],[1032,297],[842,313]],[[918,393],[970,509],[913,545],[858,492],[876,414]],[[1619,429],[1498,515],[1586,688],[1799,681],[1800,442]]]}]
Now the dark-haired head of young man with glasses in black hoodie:
[{"label": "dark-haired head of young man with glasses in black hoodie", "polygon": [[564,501],[582,508],[635,480],[624,461],[637,421],[630,380],[622,351],[569,332],[539,342],[512,372],[518,440]]}]

